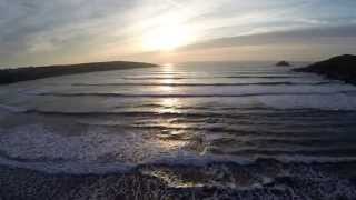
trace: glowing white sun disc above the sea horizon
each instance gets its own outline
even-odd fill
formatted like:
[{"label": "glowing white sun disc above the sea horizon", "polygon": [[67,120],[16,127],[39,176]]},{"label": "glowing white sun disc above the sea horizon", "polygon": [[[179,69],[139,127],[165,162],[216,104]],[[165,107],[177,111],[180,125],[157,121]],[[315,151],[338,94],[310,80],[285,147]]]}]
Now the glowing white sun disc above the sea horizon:
[{"label": "glowing white sun disc above the sea horizon", "polygon": [[142,48],[148,51],[172,51],[192,40],[189,28],[182,24],[158,26],[142,39]]}]

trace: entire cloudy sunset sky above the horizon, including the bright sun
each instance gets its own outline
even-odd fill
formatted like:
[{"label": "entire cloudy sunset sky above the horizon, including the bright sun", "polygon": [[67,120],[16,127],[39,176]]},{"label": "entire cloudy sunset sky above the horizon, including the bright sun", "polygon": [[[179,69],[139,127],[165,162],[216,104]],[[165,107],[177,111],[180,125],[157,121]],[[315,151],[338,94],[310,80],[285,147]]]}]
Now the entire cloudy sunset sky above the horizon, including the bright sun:
[{"label": "entire cloudy sunset sky above the horizon, including the bright sun", "polygon": [[345,53],[356,53],[355,0],[0,0],[2,68]]}]

